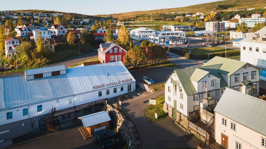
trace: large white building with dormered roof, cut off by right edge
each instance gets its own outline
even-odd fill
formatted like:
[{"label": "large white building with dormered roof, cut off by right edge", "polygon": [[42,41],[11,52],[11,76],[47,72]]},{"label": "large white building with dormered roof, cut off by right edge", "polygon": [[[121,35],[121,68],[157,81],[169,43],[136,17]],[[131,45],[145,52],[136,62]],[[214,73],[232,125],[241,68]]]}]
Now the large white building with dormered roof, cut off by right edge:
[{"label": "large white building with dormered roof, cut off by right edge", "polygon": [[[266,70],[266,27],[241,40],[240,60],[253,64],[256,67]],[[263,75],[264,74],[264,75]],[[261,73],[261,79],[266,80],[265,73]]]}]

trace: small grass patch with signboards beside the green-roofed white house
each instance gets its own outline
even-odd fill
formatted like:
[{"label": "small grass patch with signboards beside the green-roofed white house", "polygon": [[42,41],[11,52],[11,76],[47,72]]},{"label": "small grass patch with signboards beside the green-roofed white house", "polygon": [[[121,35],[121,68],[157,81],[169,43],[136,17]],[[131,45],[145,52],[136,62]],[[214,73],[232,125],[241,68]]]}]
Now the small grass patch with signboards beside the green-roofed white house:
[{"label": "small grass patch with signboards beside the green-roofed white house", "polygon": [[[156,100],[156,109],[155,105],[149,105],[145,109],[145,117],[149,121],[149,123],[155,123],[166,118],[168,115],[164,112],[164,95],[155,98]],[[155,113],[157,113],[157,118],[155,118]]]}]

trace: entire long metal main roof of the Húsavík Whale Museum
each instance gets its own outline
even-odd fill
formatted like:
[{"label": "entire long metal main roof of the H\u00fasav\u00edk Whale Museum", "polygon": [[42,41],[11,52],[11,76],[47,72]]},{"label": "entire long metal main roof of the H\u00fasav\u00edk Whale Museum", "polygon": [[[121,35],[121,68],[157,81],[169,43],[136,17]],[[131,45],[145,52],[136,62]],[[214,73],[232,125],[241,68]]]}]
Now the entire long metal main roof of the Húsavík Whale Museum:
[{"label": "entire long metal main roof of the H\u00fasav\u00edk Whale Museum", "polygon": [[[63,66],[59,65],[59,68]],[[45,69],[49,70],[49,67]],[[0,78],[0,111],[109,88],[123,80],[127,83],[136,81],[121,61],[73,67],[66,71],[67,74],[64,75],[28,81],[24,75]],[[30,74],[32,74],[31,71]],[[93,88],[95,85],[102,84],[105,86]]]}]

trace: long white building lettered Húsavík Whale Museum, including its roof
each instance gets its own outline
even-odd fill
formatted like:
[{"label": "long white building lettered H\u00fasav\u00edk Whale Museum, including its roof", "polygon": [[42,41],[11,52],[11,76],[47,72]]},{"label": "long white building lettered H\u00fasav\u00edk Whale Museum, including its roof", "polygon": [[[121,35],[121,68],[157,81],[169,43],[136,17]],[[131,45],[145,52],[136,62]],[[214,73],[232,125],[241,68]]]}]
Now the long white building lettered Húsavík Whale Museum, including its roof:
[{"label": "long white building lettered H\u00fasav\u00edk Whale Museum, including its roof", "polygon": [[121,61],[68,69],[56,65],[0,78],[0,140],[36,132],[51,117],[60,123],[99,112],[108,98],[134,91],[135,82]]}]

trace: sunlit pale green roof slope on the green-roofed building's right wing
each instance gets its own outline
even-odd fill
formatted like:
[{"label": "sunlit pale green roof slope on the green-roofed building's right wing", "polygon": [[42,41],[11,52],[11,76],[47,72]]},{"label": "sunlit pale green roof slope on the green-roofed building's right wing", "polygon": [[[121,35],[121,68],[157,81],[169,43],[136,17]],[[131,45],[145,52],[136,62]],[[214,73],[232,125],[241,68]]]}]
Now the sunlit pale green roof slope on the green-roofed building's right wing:
[{"label": "sunlit pale green roof slope on the green-roofed building's right wing", "polygon": [[222,64],[222,66],[220,67],[218,71],[219,73],[222,73],[227,76],[231,76],[233,73],[235,73],[237,70],[239,70],[241,67],[243,67],[245,64],[248,64],[248,63],[243,62],[243,61],[237,61],[233,59],[215,56],[210,61],[208,61],[208,63],[205,63],[202,66],[209,66],[209,65],[216,65],[216,64]]}]

